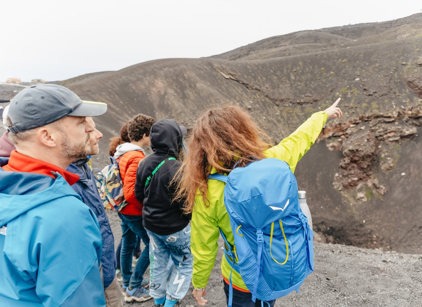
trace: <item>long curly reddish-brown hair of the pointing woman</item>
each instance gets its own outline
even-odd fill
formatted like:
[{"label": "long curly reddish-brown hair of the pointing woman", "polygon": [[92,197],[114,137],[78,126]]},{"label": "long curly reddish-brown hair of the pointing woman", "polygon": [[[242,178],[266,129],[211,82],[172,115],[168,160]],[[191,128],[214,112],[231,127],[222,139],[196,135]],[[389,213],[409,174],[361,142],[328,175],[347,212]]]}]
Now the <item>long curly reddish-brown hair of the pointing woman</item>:
[{"label": "long curly reddish-brown hair of the pointing woman", "polygon": [[191,213],[198,190],[206,204],[207,181],[211,169],[217,173],[230,172],[236,161],[243,167],[253,156],[265,158],[270,148],[269,136],[258,127],[251,116],[238,106],[228,105],[204,112],[195,122],[184,141],[187,152],[174,178],[176,198],[187,198],[184,210]]}]

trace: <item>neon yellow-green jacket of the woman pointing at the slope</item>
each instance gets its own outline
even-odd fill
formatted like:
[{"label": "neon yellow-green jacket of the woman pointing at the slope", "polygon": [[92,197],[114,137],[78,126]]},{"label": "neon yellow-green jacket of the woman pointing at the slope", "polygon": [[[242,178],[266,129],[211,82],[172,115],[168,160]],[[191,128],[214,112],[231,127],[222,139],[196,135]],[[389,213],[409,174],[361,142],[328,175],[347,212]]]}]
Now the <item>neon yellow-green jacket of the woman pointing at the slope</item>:
[{"label": "neon yellow-green jacket of the woman pointing at the slope", "polygon": [[[327,113],[324,111],[312,114],[295,132],[283,139],[278,145],[266,150],[264,152],[265,156],[286,161],[294,173],[296,165],[311,145],[314,144],[327,118]],[[222,181],[208,180],[207,198],[210,204],[208,208],[204,206],[202,196],[196,196],[195,198],[191,222],[191,250],[194,257],[192,284],[195,288],[205,288],[208,283],[218,250],[218,228],[221,228],[230,245],[234,245],[229,215],[223,202],[224,187],[225,183]],[[229,279],[231,268],[231,264],[223,257],[221,271],[227,280]],[[232,273],[232,283],[237,288],[247,291],[240,274],[235,272],[235,270]]]}]

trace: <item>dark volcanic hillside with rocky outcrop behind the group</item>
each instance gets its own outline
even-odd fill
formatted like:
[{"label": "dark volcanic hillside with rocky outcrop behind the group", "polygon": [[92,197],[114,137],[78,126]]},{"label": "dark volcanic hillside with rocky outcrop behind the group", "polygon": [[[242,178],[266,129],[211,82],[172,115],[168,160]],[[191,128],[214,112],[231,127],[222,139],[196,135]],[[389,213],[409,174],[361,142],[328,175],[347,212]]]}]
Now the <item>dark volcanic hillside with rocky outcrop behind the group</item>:
[{"label": "dark volcanic hillside with rocky outcrop behind the group", "polygon": [[[314,229],[329,242],[421,253],[422,14],[391,22],[302,31],[219,56],[156,60],[66,84],[104,101],[105,140],[139,112],[188,128],[209,106],[248,109],[280,141],[338,96],[296,171]],[[235,59],[235,60],[234,60]]]}]

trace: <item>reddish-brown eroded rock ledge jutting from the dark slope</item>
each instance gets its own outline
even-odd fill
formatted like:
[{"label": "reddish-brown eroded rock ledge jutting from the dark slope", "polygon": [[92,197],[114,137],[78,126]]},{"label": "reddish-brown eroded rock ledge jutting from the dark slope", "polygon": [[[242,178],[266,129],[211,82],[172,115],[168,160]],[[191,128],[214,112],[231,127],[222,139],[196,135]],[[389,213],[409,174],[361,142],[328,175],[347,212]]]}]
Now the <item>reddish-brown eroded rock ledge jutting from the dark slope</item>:
[{"label": "reddish-brown eroded rock ledge jutting from the dark slope", "polygon": [[372,114],[324,128],[319,139],[325,140],[330,150],[341,150],[343,155],[333,187],[356,189],[358,202],[368,200],[362,192],[365,188],[383,196],[387,188],[382,185],[382,178],[374,177],[372,169],[379,167],[385,174],[394,169],[400,144],[417,136],[417,127],[421,125],[422,99],[418,106],[403,107],[391,114]]}]

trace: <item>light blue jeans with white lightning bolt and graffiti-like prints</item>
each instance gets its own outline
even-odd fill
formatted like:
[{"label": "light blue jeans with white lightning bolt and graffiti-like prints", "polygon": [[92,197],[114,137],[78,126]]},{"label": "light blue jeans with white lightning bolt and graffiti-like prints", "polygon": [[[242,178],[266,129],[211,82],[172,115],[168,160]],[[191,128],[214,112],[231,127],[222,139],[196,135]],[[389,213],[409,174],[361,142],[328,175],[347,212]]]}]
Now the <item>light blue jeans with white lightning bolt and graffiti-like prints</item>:
[{"label": "light blue jeans with white lightning bolt and graffiti-like prints", "polygon": [[183,299],[192,279],[190,225],[162,236],[146,230],[149,236],[149,294],[154,299]]}]

